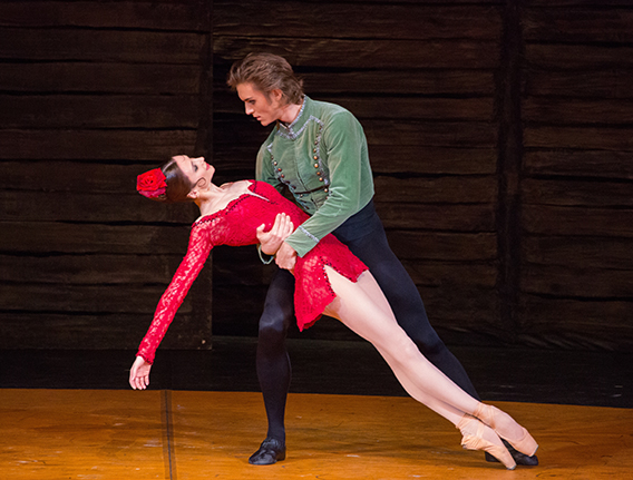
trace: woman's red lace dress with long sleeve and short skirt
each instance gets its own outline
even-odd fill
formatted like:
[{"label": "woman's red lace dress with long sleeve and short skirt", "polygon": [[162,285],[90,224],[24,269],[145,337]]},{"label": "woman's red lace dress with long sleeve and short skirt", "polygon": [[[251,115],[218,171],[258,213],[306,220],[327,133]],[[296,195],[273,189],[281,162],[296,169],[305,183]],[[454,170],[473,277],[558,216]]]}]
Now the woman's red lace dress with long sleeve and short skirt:
[{"label": "woman's red lace dress with long sleeve and short skirt", "polygon": [[[256,228],[265,224],[265,229],[270,229],[276,215],[282,212],[290,215],[294,225],[301,225],[308,218],[303,210],[264,182],[253,182],[249,190],[250,194],[241,195],[224,209],[193,224],[187,254],[160,297],[152,325],[140,342],[137,355],[146,362],[154,362],[158,344],[215,245],[257,244]],[[298,257],[294,267],[294,310],[299,330],[316,322],[337,296],[328,281],[325,265],[352,282],[368,270],[333,235],[327,235],[305,256]]]}]

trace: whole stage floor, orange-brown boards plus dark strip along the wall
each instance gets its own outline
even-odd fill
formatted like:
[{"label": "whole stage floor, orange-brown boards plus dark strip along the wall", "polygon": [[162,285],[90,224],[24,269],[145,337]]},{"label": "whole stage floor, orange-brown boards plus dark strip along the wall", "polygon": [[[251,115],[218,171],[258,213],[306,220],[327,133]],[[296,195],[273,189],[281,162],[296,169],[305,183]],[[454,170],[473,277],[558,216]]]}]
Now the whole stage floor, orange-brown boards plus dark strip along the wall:
[{"label": "whole stage floor, orange-brown boards plus dark strip along the wall", "polygon": [[0,351],[0,480],[632,479],[633,354],[456,347],[483,399],[524,423],[541,466],[507,471],[403,393],[364,342],[289,340],[288,458],[247,458],[266,424],[255,341],[157,352]]}]

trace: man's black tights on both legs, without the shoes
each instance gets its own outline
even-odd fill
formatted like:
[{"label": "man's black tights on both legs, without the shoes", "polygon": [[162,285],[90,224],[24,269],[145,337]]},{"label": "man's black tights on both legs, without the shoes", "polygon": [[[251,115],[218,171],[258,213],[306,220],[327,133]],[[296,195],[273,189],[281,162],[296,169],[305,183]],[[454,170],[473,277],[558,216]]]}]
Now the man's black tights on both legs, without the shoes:
[{"label": "man's black tights on both legs, without the shoes", "polygon": [[[429,323],[418,288],[391,252],[373,204],[348,218],[333,233],[369,267],[398,323],[420,352],[462,390],[479,400],[464,366]],[[257,376],[269,419],[269,437],[282,441],[285,440],[284,411],[291,379],[285,335],[291,322],[295,321],[293,298],[294,277],[290,272],[279,270],[271,281],[260,320]]]}]

